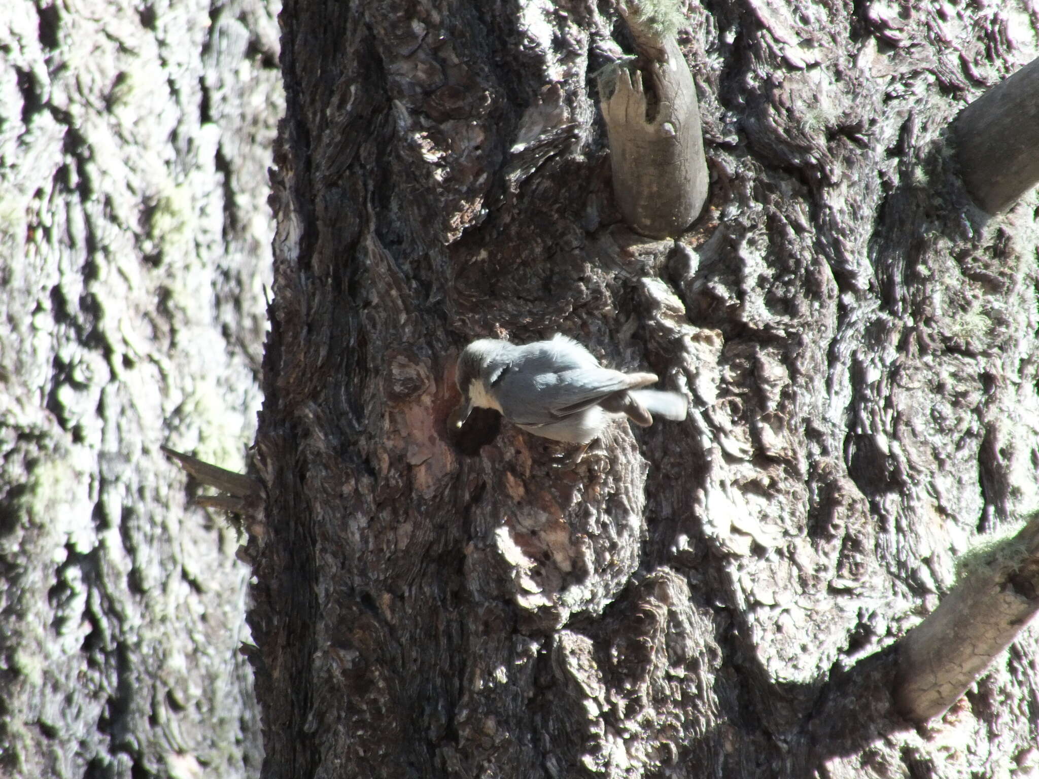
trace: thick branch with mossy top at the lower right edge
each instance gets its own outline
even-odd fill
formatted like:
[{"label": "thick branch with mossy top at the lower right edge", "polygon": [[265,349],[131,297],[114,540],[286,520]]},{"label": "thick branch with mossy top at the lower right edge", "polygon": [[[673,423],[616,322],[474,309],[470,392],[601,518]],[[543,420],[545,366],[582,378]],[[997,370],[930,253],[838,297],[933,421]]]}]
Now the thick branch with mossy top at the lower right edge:
[{"label": "thick branch with mossy top at the lower right edge", "polygon": [[955,703],[1039,610],[1039,516],[974,567],[900,642],[895,700],[917,724]]}]

